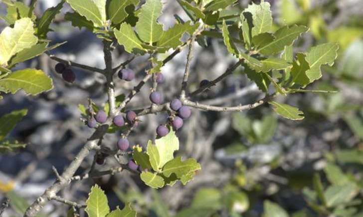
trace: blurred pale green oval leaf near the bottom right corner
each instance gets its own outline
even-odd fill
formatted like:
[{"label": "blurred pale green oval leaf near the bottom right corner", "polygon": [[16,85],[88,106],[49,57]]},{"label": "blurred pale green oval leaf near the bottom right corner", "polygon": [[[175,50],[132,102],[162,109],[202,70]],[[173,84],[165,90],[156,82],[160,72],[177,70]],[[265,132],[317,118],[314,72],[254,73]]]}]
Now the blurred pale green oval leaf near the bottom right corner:
[{"label": "blurred pale green oval leaf near the bottom right corner", "polygon": [[351,201],[359,193],[359,188],[354,183],[345,185],[332,185],[324,192],[328,207],[335,207]]}]

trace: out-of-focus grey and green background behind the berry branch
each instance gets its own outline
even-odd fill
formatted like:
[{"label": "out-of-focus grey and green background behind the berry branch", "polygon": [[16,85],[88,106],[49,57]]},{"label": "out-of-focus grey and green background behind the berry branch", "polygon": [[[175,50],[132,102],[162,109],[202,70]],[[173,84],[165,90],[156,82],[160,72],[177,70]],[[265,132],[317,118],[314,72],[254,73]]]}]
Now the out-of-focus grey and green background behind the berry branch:
[{"label": "out-of-focus grey and green background behind the berry branch", "polygon": [[[28,3],[27,0],[25,0]],[[167,29],[174,25],[174,14],[187,15],[176,1],[164,0],[159,21]],[[245,8],[249,0],[239,0],[233,13]],[[258,3],[259,1],[254,1]],[[131,202],[140,217],[359,217],[363,216],[363,0],[269,0],[275,28],[294,23],[310,31],[296,41],[294,51],[308,51],[319,43],[338,41],[339,56],[333,67],[322,68],[323,78],[309,89],[320,87],[337,93],[295,93],[278,100],[297,106],[305,113],[302,121],[290,121],[273,114],[269,105],[244,112],[204,112],[192,110],[179,130],[179,155],[197,159],[202,170],[186,186],[153,190],[129,172],[101,179],[72,183],[62,197],[84,204],[90,187],[97,183],[106,192],[111,209]],[[38,0],[36,14],[59,0]],[[51,43],[68,41],[51,51],[57,56],[104,68],[102,41],[86,29],[72,27],[64,20],[67,4],[56,17],[48,34]],[[0,13],[6,6],[0,3]],[[0,29],[5,23],[0,20]],[[196,43],[196,42],[195,42]],[[158,86],[164,100],[171,100],[181,87],[186,61],[184,49],[162,68],[166,82]],[[235,61],[227,55],[221,39],[205,38],[195,46],[189,91],[203,79],[212,80]],[[130,54],[118,46],[113,51],[114,66]],[[145,75],[147,57],[138,57],[129,67],[136,79],[124,82],[115,77],[116,93],[128,93]],[[55,166],[63,171],[91,135],[81,121],[78,104],[90,97],[98,106],[107,100],[104,78],[73,68],[76,81],[63,82],[55,73],[55,61],[48,56],[20,63],[16,68],[36,67],[48,73],[54,89],[36,97],[19,91],[0,100],[0,116],[14,109],[28,108],[28,115],[10,137],[28,144],[16,153],[0,153],[0,202],[5,196],[10,207],[4,217],[16,217],[50,186]],[[198,101],[210,105],[238,105],[263,97],[239,67]],[[132,99],[128,109],[149,105],[151,81]],[[130,134],[131,144],[146,146],[155,138],[155,129],[167,121],[167,114],[141,117],[141,124]],[[115,148],[118,136],[108,134],[103,143]],[[77,174],[87,171],[94,154],[82,163]],[[115,166],[109,157],[103,170]],[[48,203],[42,216],[65,217],[69,207]],[[80,216],[86,214],[83,209]]]}]

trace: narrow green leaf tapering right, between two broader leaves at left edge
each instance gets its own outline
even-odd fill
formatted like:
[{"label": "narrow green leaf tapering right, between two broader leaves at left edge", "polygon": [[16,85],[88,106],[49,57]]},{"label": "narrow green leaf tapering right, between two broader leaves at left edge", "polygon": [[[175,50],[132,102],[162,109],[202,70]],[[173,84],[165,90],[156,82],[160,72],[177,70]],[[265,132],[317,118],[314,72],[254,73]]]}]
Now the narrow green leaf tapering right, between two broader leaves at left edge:
[{"label": "narrow green leaf tapering right, between two broader leaves at left edge", "polygon": [[33,45],[32,47],[30,48],[25,48],[23,49],[22,51],[18,52],[15,54],[15,56],[13,56],[11,59],[10,59],[10,62],[9,62],[9,67],[13,67],[15,64],[19,63],[19,62],[23,62],[25,60],[28,60],[28,59],[31,59],[31,58],[34,58],[36,56],[39,56],[40,54],[44,53],[45,51],[49,51],[49,50],[52,50],[62,44],[66,43],[63,42],[63,43],[57,43],[57,44],[54,44],[53,46],[51,47],[47,47],[48,43],[39,43],[39,44],[35,44]]}]

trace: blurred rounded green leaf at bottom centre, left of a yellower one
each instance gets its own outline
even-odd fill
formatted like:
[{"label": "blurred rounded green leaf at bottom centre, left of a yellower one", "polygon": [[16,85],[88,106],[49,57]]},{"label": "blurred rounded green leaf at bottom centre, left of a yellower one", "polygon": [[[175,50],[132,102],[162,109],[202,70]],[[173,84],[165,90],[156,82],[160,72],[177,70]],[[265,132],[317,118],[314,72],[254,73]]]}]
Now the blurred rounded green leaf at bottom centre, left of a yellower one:
[{"label": "blurred rounded green leaf at bottom centre, left of a yellower one", "polygon": [[222,195],[217,189],[201,188],[195,194],[191,207],[219,210],[222,207],[221,198]]}]

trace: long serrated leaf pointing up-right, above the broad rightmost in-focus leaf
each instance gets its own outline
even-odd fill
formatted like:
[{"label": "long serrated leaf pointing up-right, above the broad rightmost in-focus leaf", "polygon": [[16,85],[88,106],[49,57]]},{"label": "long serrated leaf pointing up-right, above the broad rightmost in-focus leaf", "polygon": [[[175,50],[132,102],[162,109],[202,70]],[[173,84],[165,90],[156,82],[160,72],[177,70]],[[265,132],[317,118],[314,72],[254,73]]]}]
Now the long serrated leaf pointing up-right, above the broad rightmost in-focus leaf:
[{"label": "long serrated leaf pointing up-right, above the broad rightmost in-focus leaf", "polygon": [[263,55],[272,55],[282,51],[285,46],[291,45],[301,33],[306,32],[308,28],[303,25],[293,25],[290,28],[284,26],[279,28],[275,33],[275,39],[260,44],[256,50]]}]

